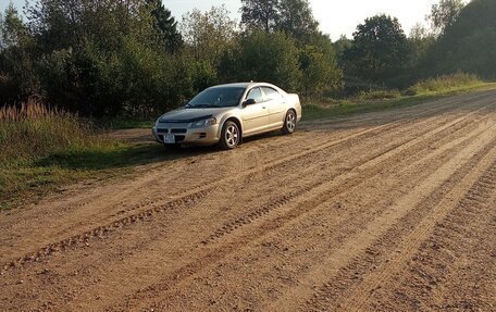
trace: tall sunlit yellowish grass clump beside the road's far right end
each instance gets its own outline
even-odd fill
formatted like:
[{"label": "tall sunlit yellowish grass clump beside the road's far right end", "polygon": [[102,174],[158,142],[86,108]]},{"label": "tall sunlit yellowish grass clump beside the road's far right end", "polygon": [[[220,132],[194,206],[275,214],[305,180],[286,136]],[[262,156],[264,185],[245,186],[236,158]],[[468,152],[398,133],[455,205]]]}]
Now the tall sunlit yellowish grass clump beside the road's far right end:
[{"label": "tall sunlit yellowish grass clump beside the road's far right end", "polygon": [[448,91],[451,89],[458,89],[460,87],[472,87],[482,83],[483,82],[476,75],[456,73],[418,82],[408,89],[408,92],[412,95],[419,95]]}]

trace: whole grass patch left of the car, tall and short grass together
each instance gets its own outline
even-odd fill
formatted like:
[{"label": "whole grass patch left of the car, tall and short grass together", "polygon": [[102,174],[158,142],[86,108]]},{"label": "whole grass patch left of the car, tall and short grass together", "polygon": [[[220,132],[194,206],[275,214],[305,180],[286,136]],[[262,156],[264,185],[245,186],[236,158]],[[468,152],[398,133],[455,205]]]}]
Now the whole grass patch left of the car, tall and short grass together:
[{"label": "whole grass patch left of the car, tall and short grass together", "polygon": [[131,145],[95,132],[87,121],[29,100],[0,110],[0,210],[36,201],[60,187],[133,172],[171,159],[159,145]]}]

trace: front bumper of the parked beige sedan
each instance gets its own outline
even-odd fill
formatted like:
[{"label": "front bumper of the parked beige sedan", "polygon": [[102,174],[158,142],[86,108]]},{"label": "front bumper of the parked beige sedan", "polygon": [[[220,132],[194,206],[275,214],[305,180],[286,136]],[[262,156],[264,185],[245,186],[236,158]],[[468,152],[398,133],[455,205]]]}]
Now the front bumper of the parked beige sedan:
[{"label": "front bumper of the parked beige sedan", "polygon": [[219,124],[199,128],[188,128],[188,124],[159,123],[152,128],[153,137],[161,143],[165,136],[174,136],[176,145],[214,145],[219,142]]}]

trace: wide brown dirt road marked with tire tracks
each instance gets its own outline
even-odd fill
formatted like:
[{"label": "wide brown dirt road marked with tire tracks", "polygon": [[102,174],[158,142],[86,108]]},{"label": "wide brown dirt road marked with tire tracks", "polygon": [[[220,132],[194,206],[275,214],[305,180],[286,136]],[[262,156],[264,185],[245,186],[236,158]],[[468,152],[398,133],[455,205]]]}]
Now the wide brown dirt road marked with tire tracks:
[{"label": "wide brown dirt road marked with tire tracks", "polygon": [[0,214],[2,311],[495,311],[496,91]]}]

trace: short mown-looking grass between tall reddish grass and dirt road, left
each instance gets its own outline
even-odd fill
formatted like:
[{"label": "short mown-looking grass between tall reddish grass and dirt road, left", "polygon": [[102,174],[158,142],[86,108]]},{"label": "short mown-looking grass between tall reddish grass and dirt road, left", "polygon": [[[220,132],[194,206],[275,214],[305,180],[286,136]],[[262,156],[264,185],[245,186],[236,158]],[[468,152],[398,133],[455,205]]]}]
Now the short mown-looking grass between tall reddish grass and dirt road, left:
[{"label": "short mown-looking grass between tall reddish grass and dirt road, left", "polygon": [[67,149],[37,160],[0,166],[0,210],[34,202],[80,180],[100,180],[133,173],[136,165],[174,159],[159,145],[106,143]]}]

